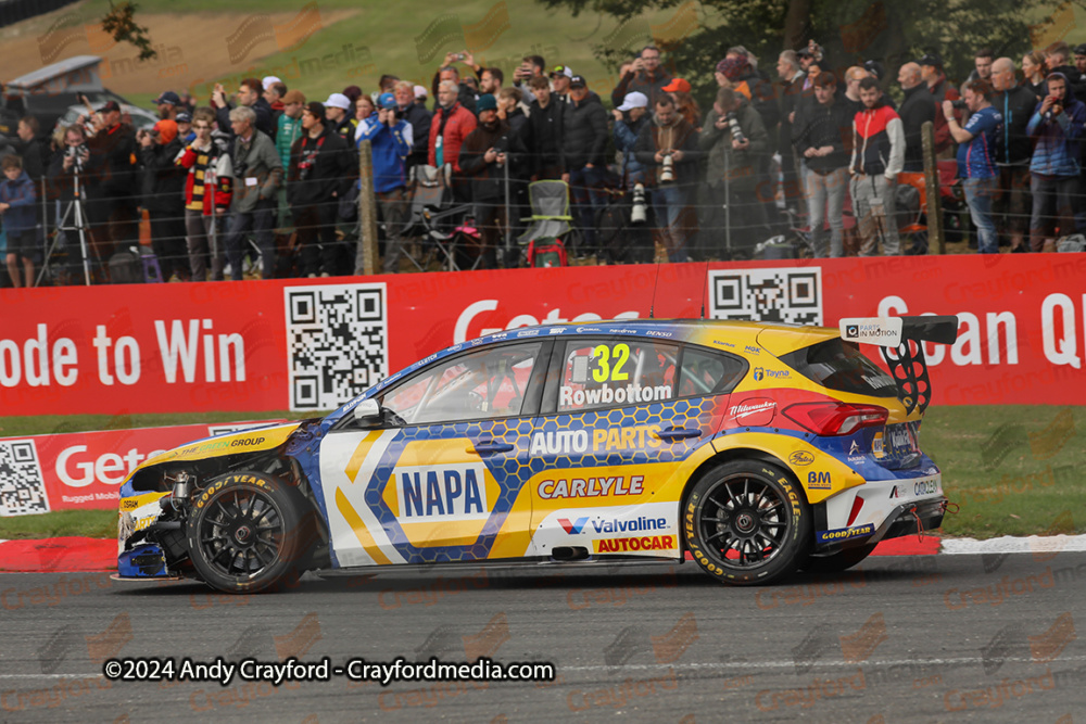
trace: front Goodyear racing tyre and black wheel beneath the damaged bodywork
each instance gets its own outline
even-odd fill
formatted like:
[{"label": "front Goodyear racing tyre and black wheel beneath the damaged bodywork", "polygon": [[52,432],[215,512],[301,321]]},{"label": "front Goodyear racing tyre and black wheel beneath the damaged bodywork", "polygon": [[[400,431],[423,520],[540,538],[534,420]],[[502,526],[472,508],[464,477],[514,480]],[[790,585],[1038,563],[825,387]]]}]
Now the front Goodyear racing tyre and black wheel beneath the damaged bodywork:
[{"label": "front Goodyear racing tyre and black wheel beneath the damaged bodywork", "polygon": [[214,588],[252,594],[293,585],[305,557],[307,504],[296,488],[258,472],[216,480],[190,510],[192,566]]}]

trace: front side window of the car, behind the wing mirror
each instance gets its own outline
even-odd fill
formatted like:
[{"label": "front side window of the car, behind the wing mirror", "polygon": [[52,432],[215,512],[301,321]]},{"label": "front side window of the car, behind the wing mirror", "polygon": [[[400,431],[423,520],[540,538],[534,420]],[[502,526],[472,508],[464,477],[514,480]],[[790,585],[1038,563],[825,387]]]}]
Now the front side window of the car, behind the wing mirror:
[{"label": "front side window of the car, behind the wing mirror", "polygon": [[407,424],[519,416],[542,346],[490,347],[435,363],[379,402]]}]

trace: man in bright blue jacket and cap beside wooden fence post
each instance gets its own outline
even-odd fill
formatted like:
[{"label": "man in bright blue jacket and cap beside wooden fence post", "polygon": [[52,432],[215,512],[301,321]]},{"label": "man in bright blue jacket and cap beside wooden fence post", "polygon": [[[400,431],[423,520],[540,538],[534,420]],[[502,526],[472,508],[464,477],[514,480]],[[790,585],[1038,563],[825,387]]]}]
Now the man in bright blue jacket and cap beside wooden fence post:
[{"label": "man in bright blue jacket and cap beside wooden fence post", "polygon": [[[396,107],[392,93],[381,93],[377,99],[377,123],[370,123],[358,137],[358,142],[369,141],[374,156],[374,191],[377,206],[384,220],[387,241],[384,244],[384,274],[400,270],[403,254],[403,230],[407,221],[407,173],[406,162],[411,144],[405,136],[407,123]],[[372,117],[372,116],[370,116]],[[362,233],[365,233],[363,229]],[[362,274],[362,233],[358,234],[358,251],[354,262],[354,272]]]}]

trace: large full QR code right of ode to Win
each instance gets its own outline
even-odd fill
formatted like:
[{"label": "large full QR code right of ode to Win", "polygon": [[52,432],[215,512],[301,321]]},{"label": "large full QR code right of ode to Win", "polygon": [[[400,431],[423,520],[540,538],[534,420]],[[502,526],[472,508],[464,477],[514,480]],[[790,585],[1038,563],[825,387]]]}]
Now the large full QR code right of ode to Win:
[{"label": "large full QR code right of ode to Win", "polygon": [[290,409],[334,409],[388,377],[386,287],[287,287]]}]

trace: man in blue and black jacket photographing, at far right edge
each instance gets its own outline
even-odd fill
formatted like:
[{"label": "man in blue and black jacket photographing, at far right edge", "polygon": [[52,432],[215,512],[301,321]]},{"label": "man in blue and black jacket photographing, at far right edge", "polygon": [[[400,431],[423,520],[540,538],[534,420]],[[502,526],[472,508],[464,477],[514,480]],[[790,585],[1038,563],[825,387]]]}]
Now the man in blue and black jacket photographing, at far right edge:
[{"label": "man in blue and black jacket photographing, at far right edge", "polygon": [[1048,96],[1030,118],[1026,132],[1037,140],[1030,163],[1033,216],[1030,247],[1044,251],[1052,244],[1056,223],[1060,234],[1074,233],[1074,202],[1078,193],[1078,139],[1086,123],[1086,105],[1075,100],[1068,77],[1050,73]]}]

